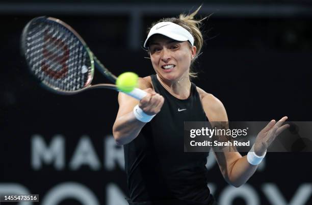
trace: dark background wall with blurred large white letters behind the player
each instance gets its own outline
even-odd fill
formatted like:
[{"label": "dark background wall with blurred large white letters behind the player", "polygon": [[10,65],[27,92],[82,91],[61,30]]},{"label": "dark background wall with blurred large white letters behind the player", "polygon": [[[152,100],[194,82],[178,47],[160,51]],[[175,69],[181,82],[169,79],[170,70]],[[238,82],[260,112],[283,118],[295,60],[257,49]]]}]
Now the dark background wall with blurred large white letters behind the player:
[{"label": "dark background wall with blurred large white letters behind the player", "polygon": [[[153,69],[140,48],[145,29],[199,4],[67,3],[0,4],[0,194],[39,194],[45,205],[123,205],[123,151],[112,137],[117,93],[62,96],[42,89],[20,56],[21,31],[35,16],[60,18],[116,75],[134,71],[146,76]],[[223,102],[230,121],[284,115],[290,121],[311,121],[310,11],[304,1],[204,2],[199,15],[214,14],[202,28],[206,40],[194,82]],[[101,82],[105,78],[96,72],[94,84]],[[246,185],[232,188],[211,155],[209,186],[221,205],[312,204],[311,157],[310,152],[268,153]]]}]

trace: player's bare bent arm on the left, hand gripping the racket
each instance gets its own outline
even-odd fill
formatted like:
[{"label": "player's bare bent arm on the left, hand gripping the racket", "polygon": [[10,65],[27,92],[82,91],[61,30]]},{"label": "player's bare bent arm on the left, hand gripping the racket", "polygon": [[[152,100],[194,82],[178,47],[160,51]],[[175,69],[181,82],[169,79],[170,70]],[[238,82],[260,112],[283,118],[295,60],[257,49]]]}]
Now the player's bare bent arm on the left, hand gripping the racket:
[{"label": "player's bare bent arm on the left, hand gripping the racket", "polygon": [[146,114],[154,115],[159,113],[164,103],[164,98],[155,93],[146,80],[140,78],[138,87],[148,92],[140,101],[121,92],[118,94],[119,110],[113,125],[113,135],[118,145],[124,145],[134,140],[146,124],[137,120],[133,114],[136,105],[139,104]]}]

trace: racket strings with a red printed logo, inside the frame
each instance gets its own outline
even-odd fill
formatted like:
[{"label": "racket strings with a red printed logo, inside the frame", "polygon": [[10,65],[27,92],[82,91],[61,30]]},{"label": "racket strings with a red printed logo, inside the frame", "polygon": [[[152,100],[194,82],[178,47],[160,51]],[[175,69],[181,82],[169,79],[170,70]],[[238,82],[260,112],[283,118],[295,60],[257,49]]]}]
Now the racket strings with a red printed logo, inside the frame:
[{"label": "racket strings with a red printed logo, inside the frame", "polygon": [[31,71],[54,89],[79,90],[92,80],[93,68],[87,50],[63,25],[46,19],[34,22],[26,46]]}]

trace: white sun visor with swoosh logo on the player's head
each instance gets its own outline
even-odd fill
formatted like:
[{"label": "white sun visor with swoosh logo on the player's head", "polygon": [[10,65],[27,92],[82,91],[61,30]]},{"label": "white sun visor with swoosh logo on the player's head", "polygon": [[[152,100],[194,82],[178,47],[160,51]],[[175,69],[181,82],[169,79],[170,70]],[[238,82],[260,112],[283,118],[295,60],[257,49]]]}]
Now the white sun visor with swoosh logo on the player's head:
[{"label": "white sun visor with swoosh logo on the player's head", "polygon": [[148,39],[154,34],[162,34],[177,41],[190,41],[194,45],[194,37],[188,30],[173,22],[160,22],[150,29],[144,42],[144,48],[146,48]]}]

